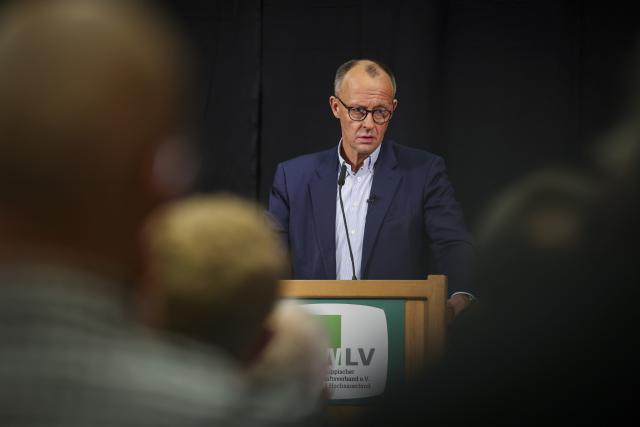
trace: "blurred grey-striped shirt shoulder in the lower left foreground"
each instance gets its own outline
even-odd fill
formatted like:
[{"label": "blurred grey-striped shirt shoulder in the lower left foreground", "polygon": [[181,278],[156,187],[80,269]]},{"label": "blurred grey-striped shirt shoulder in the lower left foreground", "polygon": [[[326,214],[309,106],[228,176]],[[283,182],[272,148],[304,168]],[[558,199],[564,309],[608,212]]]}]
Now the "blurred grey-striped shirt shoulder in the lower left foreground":
[{"label": "blurred grey-striped shirt shoulder in the lower left foreground", "polygon": [[0,412],[35,425],[231,423],[246,406],[232,361],[131,314],[116,283],[75,269],[0,268]]}]

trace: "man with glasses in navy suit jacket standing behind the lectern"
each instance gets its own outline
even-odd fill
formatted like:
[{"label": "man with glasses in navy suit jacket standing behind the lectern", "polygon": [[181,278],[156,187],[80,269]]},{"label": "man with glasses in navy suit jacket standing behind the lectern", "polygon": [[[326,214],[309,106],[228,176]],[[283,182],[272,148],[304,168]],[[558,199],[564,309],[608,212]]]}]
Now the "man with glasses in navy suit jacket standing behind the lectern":
[{"label": "man with glasses in navy suit jacket standing behind the lectern", "polygon": [[474,299],[473,247],[443,160],[384,140],[398,105],[386,66],[348,61],[334,85],[329,104],[342,130],[338,147],[278,165],[269,199],[291,250],[293,278],[441,273],[457,315]]}]

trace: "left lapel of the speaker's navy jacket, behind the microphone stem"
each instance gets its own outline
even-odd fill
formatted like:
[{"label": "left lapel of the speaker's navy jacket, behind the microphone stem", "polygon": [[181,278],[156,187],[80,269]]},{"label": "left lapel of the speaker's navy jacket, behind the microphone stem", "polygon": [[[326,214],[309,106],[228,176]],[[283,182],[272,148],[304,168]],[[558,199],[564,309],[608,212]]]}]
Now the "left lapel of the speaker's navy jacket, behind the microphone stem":
[{"label": "left lapel of the speaker's navy jacket, behind the microphone stem", "polygon": [[320,247],[326,279],[336,278],[336,194],[338,153],[333,149],[316,169],[309,182],[309,198],[313,212],[315,238]]}]

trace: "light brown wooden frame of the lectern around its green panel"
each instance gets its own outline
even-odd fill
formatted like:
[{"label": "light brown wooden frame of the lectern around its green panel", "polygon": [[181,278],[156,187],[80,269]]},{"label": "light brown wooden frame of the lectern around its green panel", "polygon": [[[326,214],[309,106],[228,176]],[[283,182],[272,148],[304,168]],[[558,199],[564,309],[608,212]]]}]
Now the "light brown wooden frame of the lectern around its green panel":
[{"label": "light brown wooden frame of the lectern around its green panel", "polygon": [[[337,303],[354,299],[402,301],[405,382],[442,354],[446,328],[445,276],[431,275],[426,280],[286,280],[280,283],[280,296]],[[345,407],[332,409],[341,417],[353,414]]]}]

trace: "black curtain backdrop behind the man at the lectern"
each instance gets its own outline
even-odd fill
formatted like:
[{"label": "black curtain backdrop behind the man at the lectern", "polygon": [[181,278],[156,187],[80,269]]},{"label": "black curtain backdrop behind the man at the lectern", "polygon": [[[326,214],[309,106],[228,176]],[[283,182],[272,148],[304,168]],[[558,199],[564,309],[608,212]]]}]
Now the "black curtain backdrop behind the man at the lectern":
[{"label": "black curtain backdrop behind the man at the lectern", "polygon": [[472,228],[500,190],[586,166],[628,101],[640,24],[626,2],[165,1],[196,53],[196,191],[267,205],[276,165],[337,144],[333,74],[398,80],[388,136],[443,156]]}]

